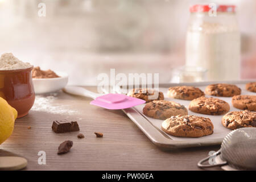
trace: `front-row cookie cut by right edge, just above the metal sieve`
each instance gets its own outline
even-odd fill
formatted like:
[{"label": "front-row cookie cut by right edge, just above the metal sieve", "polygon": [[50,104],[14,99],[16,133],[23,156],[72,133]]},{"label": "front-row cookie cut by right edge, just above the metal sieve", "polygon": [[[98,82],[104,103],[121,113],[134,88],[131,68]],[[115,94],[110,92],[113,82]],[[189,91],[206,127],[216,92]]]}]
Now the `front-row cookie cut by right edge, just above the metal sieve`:
[{"label": "front-row cookie cut by right edge, just above the metal sieve", "polygon": [[241,127],[256,127],[256,113],[249,110],[232,111],[222,117],[221,123],[231,130]]}]

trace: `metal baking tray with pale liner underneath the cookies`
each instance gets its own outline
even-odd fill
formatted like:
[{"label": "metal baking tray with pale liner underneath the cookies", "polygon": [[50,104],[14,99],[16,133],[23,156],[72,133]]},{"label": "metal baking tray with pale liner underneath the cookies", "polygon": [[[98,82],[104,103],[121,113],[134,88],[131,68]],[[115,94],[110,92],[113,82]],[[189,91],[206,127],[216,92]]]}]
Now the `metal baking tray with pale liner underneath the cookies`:
[{"label": "metal baking tray with pale liner underneath the cookies", "polygon": [[[227,84],[235,84],[242,89],[241,95],[256,95],[256,93],[249,92],[245,89],[245,84],[247,82],[251,82],[254,80],[245,80],[245,81],[221,81],[221,83]],[[167,90],[170,86],[196,86],[200,88],[202,91],[205,90],[205,87],[209,84],[215,84],[220,82],[196,82],[196,83],[181,83],[181,84],[159,84],[159,91],[164,93],[164,100],[175,101],[179,104],[184,105],[188,109],[188,105],[191,101],[185,100],[177,100],[174,98],[167,97]],[[215,96],[207,96],[206,97],[215,97]],[[229,103],[230,111],[236,111],[236,109],[232,106],[232,97],[215,97],[220,98]],[[153,142],[156,146],[160,148],[187,148],[187,147],[200,147],[200,146],[212,146],[221,144],[222,140],[225,136],[232,130],[227,129],[222,126],[221,118],[223,115],[206,115],[206,114],[198,114],[188,110],[188,115],[199,115],[202,117],[210,118],[213,122],[214,130],[212,135],[208,135],[200,138],[187,138],[187,137],[174,137],[164,133],[160,126],[163,120],[154,119],[147,117],[142,113],[142,109],[145,104],[131,107],[129,109],[123,109],[123,112],[142,130],[142,132]]]}]

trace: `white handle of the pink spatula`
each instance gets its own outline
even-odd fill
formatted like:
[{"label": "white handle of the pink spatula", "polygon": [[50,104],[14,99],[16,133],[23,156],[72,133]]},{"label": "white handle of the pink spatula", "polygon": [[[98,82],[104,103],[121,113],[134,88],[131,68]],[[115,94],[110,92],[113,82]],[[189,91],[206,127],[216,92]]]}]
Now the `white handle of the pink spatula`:
[{"label": "white handle of the pink spatula", "polygon": [[63,89],[63,91],[65,93],[73,94],[76,96],[85,96],[93,99],[96,99],[96,97],[102,96],[102,94],[90,92],[89,90],[86,90],[85,88],[82,88],[80,86],[66,86]]}]

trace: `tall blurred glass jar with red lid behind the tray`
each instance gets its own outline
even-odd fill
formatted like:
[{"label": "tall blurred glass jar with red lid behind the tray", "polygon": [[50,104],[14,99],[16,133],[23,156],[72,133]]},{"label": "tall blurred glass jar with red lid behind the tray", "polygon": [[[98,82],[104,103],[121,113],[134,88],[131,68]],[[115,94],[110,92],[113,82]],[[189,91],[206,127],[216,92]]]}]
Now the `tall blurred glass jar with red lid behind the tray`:
[{"label": "tall blurred glass jar with red lid behind the tray", "polygon": [[190,8],[185,63],[207,69],[209,81],[240,78],[240,31],[235,9],[220,5],[214,15],[208,5]]}]

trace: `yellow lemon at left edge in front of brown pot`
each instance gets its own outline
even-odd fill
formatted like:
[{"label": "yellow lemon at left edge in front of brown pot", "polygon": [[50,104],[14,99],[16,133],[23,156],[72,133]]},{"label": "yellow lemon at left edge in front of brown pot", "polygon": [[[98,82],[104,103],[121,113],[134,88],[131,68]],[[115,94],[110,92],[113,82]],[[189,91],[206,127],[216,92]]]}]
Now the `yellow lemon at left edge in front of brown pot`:
[{"label": "yellow lemon at left edge in front of brown pot", "polygon": [[18,112],[0,97],[0,144],[13,133],[14,121]]}]

